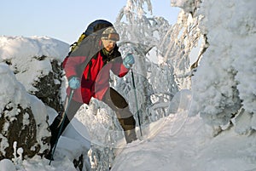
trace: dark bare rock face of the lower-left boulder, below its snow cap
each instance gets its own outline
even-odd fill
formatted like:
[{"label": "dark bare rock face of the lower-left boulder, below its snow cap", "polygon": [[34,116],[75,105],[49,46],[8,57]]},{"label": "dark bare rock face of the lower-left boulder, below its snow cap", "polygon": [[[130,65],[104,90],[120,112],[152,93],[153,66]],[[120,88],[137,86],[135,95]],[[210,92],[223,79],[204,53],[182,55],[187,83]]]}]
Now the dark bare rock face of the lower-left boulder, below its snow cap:
[{"label": "dark bare rock face of the lower-left boulder, below its snow cap", "polygon": [[[15,113],[10,116],[9,113]],[[46,123],[46,120],[45,120]],[[44,123],[44,124],[45,124]],[[0,117],[1,149],[0,159],[14,158],[15,142],[23,149],[23,157],[33,157],[36,154],[43,155],[42,147],[37,140],[37,123],[30,107],[23,109],[20,105],[11,102],[7,104]],[[49,137],[42,137],[43,145],[49,144]]]}]

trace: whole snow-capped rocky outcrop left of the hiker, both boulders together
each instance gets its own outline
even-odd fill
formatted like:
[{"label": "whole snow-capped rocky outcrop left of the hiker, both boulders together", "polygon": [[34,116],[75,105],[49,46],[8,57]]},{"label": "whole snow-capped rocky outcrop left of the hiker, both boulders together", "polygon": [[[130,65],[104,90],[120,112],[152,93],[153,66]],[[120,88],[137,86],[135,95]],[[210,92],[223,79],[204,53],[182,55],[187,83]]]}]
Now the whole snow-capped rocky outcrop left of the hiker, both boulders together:
[{"label": "whole snow-capped rocky outcrop left of the hiker, both boulders together", "polygon": [[0,37],[0,159],[44,155],[47,105],[62,111],[61,61],[68,44],[49,37]]}]

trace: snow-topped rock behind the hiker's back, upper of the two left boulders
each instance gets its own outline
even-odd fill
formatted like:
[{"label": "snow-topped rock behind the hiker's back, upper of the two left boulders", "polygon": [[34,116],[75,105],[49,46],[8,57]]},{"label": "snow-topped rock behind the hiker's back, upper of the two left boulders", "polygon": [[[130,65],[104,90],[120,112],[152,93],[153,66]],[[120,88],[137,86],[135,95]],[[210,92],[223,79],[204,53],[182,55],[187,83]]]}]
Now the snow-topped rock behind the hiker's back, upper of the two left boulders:
[{"label": "snow-topped rock behind the hiker's back, upper of the two left boulders", "polygon": [[0,62],[9,65],[26,91],[62,111],[61,61],[69,45],[50,37],[0,37]]}]

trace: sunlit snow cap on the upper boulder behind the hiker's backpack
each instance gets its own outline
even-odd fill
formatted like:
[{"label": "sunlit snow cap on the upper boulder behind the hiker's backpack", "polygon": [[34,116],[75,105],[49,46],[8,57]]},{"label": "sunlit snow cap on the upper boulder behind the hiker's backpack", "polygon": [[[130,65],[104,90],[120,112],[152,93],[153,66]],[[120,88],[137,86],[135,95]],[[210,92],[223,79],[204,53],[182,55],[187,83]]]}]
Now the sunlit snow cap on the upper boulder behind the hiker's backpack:
[{"label": "sunlit snow cap on the upper boulder behind the hiker's backpack", "polygon": [[[0,62],[12,64],[17,79],[26,90],[36,89],[32,83],[52,70],[50,60],[61,62],[67,55],[69,45],[50,37],[1,37]],[[47,56],[49,60],[40,60]],[[27,65],[30,64],[30,65]],[[27,77],[30,76],[30,77]]]}]

